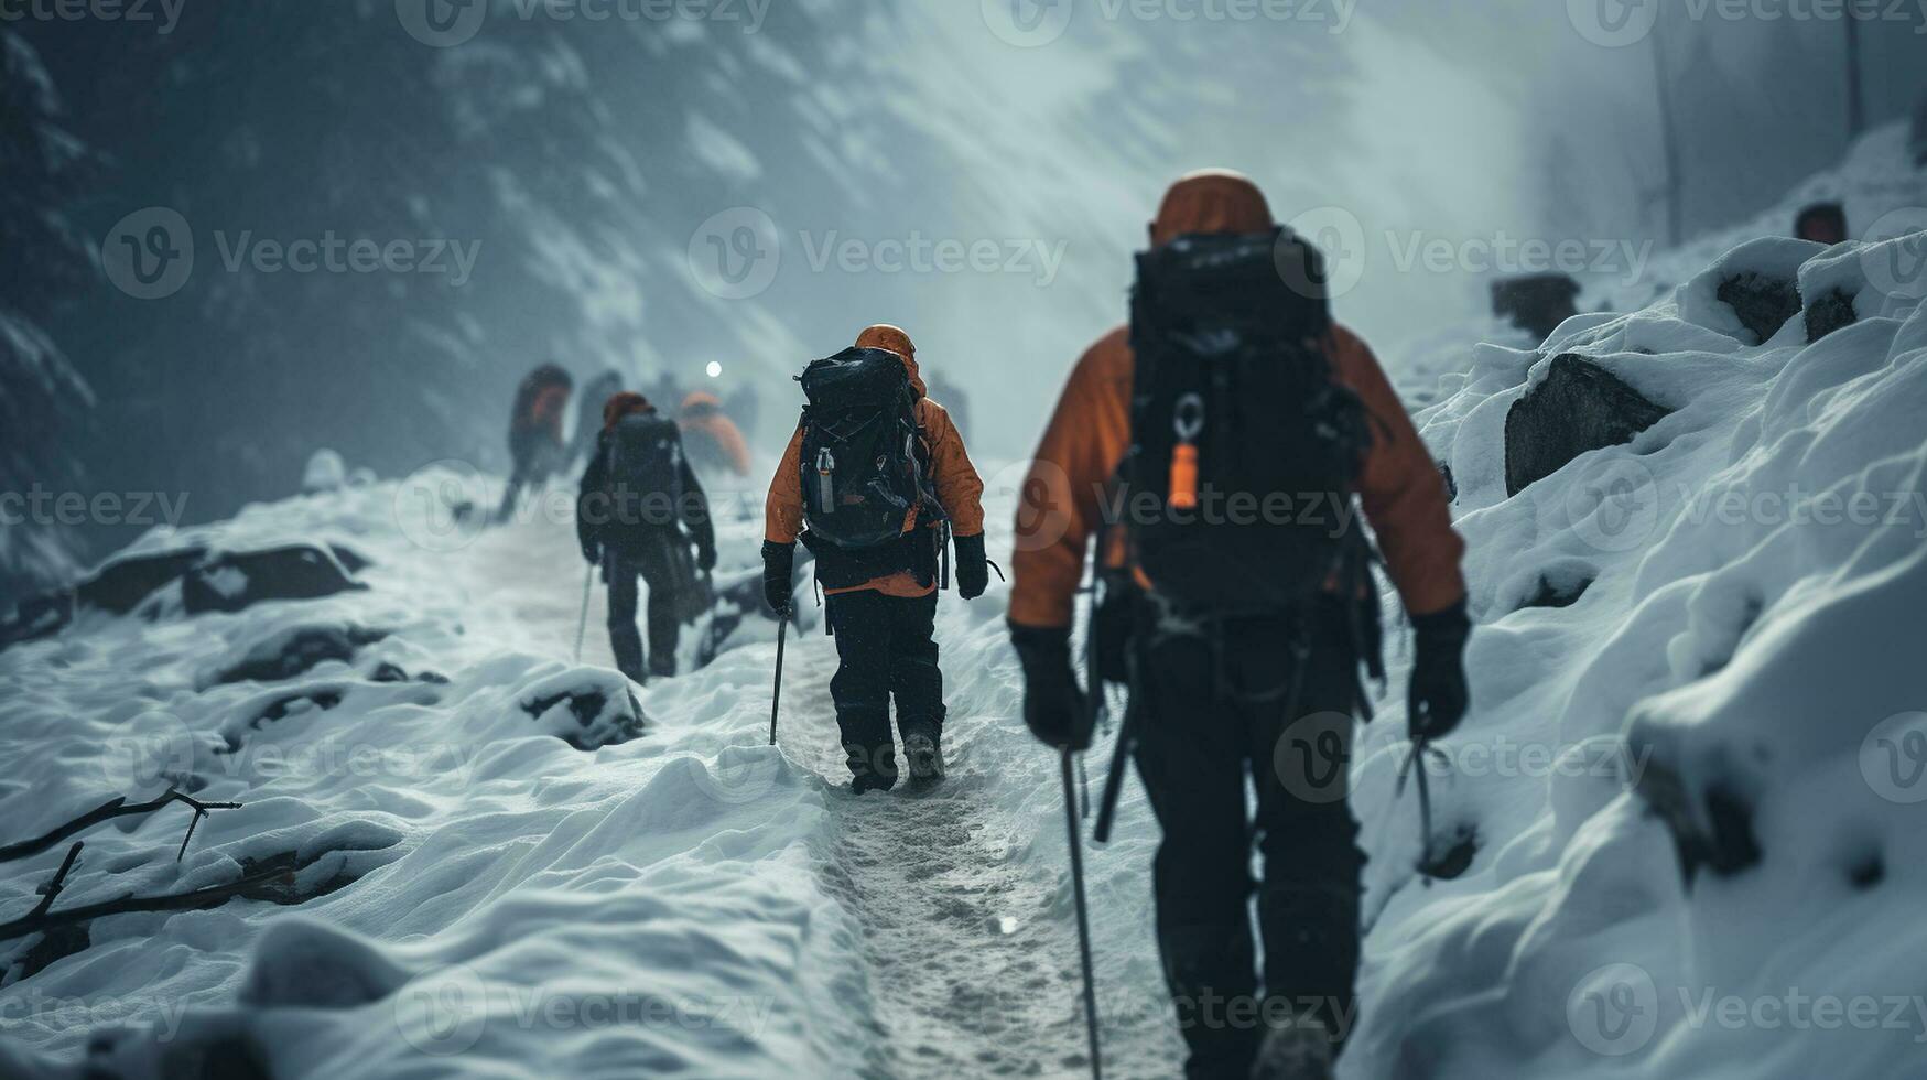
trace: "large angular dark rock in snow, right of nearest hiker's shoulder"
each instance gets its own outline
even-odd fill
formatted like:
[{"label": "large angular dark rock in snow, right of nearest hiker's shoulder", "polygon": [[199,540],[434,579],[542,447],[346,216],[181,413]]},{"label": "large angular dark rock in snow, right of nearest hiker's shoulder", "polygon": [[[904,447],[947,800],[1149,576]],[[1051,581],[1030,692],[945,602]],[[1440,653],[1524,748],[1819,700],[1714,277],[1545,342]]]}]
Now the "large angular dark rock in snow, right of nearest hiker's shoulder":
[{"label": "large angular dark rock in snow, right of nearest hiker's shoulder", "polygon": [[1505,417],[1505,494],[1517,496],[1582,453],[1624,446],[1667,417],[1599,364],[1563,353]]}]

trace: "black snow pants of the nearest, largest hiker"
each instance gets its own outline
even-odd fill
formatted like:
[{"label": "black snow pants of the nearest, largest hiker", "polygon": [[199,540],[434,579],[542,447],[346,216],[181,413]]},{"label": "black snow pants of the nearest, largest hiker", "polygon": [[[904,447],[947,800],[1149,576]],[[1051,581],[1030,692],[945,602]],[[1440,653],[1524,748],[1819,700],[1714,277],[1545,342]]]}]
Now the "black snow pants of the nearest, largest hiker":
[{"label": "black snow pants of the nearest, largest hiker", "polygon": [[1266,1032],[1291,1016],[1310,1012],[1337,1040],[1357,1020],[1364,852],[1345,804],[1357,650],[1335,600],[1305,617],[1195,634],[1160,631],[1148,604],[1131,708],[1137,770],[1164,827],[1152,870],[1158,949],[1191,1049],[1185,1074],[1243,1078]]}]

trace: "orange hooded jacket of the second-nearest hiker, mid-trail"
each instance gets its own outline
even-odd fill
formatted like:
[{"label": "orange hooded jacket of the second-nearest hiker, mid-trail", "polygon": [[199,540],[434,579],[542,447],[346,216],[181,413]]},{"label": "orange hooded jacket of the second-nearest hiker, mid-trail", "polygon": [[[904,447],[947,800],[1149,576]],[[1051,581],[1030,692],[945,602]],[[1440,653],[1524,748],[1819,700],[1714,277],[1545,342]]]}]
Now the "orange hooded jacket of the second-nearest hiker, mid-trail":
[{"label": "orange hooded jacket of the second-nearest hiker, mid-trail", "polygon": [[[937,484],[937,501],[950,515],[950,528],[958,536],[983,534],[983,478],[971,465],[964,449],[964,436],[950,422],[950,413],[931,401],[923,376],[917,374],[917,347],[896,326],[871,326],[856,339],[858,349],[888,349],[904,359],[910,370],[910,386],[917,392],[917,424],[923,426],[925,444],[931,447],[931,478]],[[782,451],[777,465],[777,478],[769,482],[769,498],[763,501],[763,538],[773,544],[794,544],[804,532],[804,430],[796,428],[790,447]],[[904,519],[904,532],[917,526],[917,511]],[[877,590],[884,596],[917,598],[937,592],[937,584],[921,584],[910,571],[865,580],[852,588],[832,588],[840,592]]]}]

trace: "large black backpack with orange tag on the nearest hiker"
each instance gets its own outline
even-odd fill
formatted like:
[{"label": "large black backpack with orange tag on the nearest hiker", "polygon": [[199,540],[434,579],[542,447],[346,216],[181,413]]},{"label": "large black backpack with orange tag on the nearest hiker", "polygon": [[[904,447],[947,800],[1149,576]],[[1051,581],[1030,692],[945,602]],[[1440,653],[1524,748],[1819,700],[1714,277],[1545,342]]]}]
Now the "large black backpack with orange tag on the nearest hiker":
[{"label": "large black backpack with orange tag on the nearest hiker", "polygon": [[1177,608],[1293,609],[1362,542],[1339,525],[1357,521],[1370,430],[1333,380],[1324,282],[1289,230],[1187,235],[1137,258],[1120,505],[1137,565]]}]

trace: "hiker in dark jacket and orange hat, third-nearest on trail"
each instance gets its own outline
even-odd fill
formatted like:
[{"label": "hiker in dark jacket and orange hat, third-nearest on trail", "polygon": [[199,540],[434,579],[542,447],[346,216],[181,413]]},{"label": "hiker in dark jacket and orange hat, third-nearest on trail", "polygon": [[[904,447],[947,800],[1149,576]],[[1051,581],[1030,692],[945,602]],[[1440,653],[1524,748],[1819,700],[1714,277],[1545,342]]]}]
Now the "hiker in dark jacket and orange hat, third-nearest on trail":
[{"label": "hiker in dark jacket and orange hat, third-nearest on trail", "polygon": [[[676,673],[676,638],[698,575],[717,565],[709,500],[682,453],[676,422],[640,393],[603,407],[603,432],[576,496],[582,557],[609,582],[609,644],[636,683]],[[690,546],[696,548],[694,561]],[[636,579],[649,586],[649,652],[636,633]]]}]

